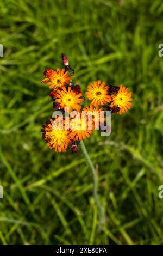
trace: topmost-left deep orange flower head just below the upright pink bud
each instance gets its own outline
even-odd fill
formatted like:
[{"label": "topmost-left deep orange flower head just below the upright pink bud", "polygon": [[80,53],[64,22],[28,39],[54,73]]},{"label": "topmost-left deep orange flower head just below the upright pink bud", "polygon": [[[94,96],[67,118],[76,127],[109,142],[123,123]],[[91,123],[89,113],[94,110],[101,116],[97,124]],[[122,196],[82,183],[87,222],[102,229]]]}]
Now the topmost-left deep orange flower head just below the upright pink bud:
[{"label": "topmost-left deep orange flower head just below the upright pink bud", "polygon": [[41,83],[46,82],[50,89],[63,87],[66,84],[69,84],[71,81],[71,77],[68,76],[68,74],[68,71],[66,71],[65,69],[57,69],[57,71],[47,69],[44,72],[44,77],[46,78],[43,79]]}]

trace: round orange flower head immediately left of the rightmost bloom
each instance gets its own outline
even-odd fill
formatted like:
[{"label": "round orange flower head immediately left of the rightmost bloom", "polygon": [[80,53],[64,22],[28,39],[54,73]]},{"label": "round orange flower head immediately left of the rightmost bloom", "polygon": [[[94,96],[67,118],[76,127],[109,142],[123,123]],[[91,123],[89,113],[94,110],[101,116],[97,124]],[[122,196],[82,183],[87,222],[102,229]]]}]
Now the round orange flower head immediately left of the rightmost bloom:
[{"label": "round orange flower head immediately left of the rightmost bloom", "polygon": [[105,86],[105,82],[100,80],[95,81],[91,86],[87,87],[86,97],[92,100],[93,106],[105,105],[106,102],[111,101],[111,96],[108,95],[109,86]]}]

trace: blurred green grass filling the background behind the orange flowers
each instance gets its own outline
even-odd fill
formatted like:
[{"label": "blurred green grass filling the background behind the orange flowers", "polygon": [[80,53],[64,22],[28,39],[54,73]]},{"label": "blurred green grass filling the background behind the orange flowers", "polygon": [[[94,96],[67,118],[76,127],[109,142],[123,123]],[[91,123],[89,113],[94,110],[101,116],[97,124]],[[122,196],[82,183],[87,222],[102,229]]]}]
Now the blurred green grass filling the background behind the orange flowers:
[{"label": "blurred green grass filling the background behind the orange flowers", "polygon": [[[161,0],[1,0],[0,243],[163,244]],[[52,115],[45,68],[64,52],[83,91],[94,80],[133,91],[111,136],[85,144],[99,173],[106,215],[98,230],[92,177],[82,152],[54,153],[41,138]]]}]

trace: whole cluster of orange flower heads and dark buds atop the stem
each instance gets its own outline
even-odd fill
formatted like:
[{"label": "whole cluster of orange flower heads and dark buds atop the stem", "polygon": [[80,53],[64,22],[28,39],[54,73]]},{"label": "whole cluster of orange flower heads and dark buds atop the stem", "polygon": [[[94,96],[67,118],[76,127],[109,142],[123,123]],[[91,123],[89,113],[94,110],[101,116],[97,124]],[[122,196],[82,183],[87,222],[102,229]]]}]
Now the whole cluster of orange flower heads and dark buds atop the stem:
[{"label": "whole cluster of orange flower heads and dark buds atop the stem", "polygon": [[[79,85],[73,84],[74,71],[63,53],[62,62],[64,69],[45,69],[43,73],[44,79],[41,83],[46,82],[52,89],[49,96],[52,97],[53,108],[58,114],[54,119],[49,119],[41,131],[50,149],[65,152],[67,148],[71,148],[72,153],[76,153],[80,141],[89,138],[93,130],[98,129],[99,123],[105,122],[105,117],[99,118],[101,112],[108,110],[111,113],[122,114],[128,111],[132,93],[128,93],[128,88],[122,85],[105,85],[105,82],[98,80],[87,87],[85,95],[91,103],[84,107],[82,89]],[[61,118],[63,114],[66,114],[66,117]]]}]

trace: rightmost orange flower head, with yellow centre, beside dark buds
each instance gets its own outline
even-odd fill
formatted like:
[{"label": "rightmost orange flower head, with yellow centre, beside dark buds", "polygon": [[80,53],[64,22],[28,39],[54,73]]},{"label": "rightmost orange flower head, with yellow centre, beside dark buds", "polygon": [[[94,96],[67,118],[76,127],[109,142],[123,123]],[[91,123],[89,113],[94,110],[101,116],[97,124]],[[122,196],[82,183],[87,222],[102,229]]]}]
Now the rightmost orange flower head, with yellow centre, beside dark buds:
[{"label": "rightmost orange flower head, with yellow centre, beside dark buds", "polygon": [[124,112],[127,112],[128,109],[130,109],[130,106],[132,103],[132,93],[128,93],[128,88],[120,85],[120,89],[118,90],[118,93],[116,95],[111,95],[112,102],[109,105],[110,107],[119,107],[120,111],[117,112],[117,114],[122,114]]}]

